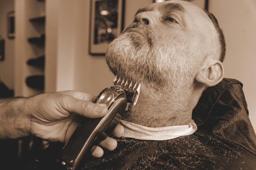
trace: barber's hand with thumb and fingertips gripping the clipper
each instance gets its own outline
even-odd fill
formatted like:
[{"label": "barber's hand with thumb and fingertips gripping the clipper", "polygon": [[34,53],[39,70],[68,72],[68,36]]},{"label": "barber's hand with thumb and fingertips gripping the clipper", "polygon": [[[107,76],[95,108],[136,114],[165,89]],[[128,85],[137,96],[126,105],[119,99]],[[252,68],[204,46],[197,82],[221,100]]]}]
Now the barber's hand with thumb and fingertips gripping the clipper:
[{"label": "barber's hand with thumb and fingertips gripping the clipper", "polygon": [[[79,91],[61,91],[44,93],[30,97],[30,132],[47,141],[66,142],[79,125],[82,116],[99,118],[106,115],[108,108],[103,104],[92,103],[96,97]],[[112,132],[121,137],[124,127],[118,125]],[[107,137],[100,146],[114,150],[117,141]],[[99,146],[92,148],[94,157],[101,157],[103,150]]]}]

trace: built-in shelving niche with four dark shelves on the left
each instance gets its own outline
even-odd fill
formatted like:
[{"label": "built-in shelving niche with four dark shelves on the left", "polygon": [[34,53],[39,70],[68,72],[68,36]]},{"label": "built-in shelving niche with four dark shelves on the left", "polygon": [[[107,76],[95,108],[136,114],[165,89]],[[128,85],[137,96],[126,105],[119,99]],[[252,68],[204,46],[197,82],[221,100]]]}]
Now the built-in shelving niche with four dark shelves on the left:
[{"label": "built-in shelving niche with four dark shelves on the left", "polygon": [[[16,1],[16,96],[44,92],[45,0]],[[21,42],[21,43],[20,43]]]}]

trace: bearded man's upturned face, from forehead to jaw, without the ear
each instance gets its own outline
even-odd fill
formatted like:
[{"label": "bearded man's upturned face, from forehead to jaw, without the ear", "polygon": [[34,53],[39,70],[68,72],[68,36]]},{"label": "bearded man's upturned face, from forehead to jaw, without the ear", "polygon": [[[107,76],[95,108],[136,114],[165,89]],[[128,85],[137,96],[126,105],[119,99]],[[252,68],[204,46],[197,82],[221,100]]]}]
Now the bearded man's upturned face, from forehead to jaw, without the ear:
[{"label": "bearded man's upturned face, from forehead to jaw, without the ear", "polygon": [[111,42],[106,61],[115,75],[180,95],[178,89],[193,84],[216,37],[211,20],[195,5],[154,3],[139,9],[135,22]]}]

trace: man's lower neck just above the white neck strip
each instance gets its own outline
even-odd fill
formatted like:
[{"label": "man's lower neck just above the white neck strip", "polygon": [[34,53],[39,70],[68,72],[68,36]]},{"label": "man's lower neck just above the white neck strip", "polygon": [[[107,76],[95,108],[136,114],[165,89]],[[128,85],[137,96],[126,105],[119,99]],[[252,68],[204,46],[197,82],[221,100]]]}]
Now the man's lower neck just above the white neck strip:
[{"label": "man's lower neck just above the white neck strip", "polygon": [[130,113],[123,117],[126,121],[147,127],[186,125],[191,120],[192,110],[184,107],[185,105],[166,100],[150,101],[141,97]]}]

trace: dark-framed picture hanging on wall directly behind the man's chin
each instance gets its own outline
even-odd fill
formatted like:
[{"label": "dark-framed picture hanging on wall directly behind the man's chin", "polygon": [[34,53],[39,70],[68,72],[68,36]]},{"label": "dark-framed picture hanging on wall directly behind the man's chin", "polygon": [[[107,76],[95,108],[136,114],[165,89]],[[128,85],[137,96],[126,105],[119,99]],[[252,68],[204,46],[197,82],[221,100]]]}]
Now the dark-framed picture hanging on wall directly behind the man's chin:
[{"label": "dark-framed picture hanging on wall directly behind the man's chin", "polygon": [[91,0],[91,55],[105,55],[108,45],[123,30],[124,0]]}]

